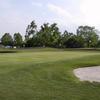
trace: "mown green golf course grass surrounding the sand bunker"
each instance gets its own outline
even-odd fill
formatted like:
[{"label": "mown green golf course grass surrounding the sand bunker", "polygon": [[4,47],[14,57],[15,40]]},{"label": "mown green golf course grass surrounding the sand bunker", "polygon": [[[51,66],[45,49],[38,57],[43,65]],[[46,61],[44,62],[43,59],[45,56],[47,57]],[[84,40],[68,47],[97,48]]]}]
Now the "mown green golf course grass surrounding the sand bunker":
[{"label": "mown green golf course grass surrounding the sand bunker", "polygon": [[73,74],[94,65],[100,65],[99,51],[1,52],[0,100],[100,100],[100,83],[80,82]]}]

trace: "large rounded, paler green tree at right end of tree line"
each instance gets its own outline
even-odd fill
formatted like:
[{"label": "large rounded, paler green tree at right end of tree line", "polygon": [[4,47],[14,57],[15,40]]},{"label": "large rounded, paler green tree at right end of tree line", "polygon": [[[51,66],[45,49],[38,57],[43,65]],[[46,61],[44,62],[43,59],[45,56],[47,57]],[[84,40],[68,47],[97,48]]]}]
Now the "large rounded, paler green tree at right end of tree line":
[{"label": "large rounded, paler green tree at right end of tree line", "polygon": [[90,26],[80,26],[77,29],[77,35],[84,39],[85,47],[95,47],[99,38],[95,28]]}]

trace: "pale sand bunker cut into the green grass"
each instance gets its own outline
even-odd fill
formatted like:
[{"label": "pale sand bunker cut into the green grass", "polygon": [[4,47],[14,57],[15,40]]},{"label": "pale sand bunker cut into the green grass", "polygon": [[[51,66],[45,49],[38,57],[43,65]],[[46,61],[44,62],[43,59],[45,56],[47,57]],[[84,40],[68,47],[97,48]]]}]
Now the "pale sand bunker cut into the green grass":
[{"label": "pale sand bunker cut into the green grass", "polygon": [[74,74],[80,81],[100,82],[100,66],[78,68]]}]

